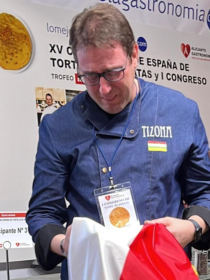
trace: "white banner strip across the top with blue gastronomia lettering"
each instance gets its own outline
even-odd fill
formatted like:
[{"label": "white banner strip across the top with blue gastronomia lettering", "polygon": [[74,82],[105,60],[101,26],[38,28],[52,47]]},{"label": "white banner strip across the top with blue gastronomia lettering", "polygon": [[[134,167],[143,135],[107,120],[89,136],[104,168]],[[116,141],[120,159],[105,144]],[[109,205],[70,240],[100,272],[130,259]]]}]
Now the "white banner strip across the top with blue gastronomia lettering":
[{"label": "white banner strip across the top with blue gastronomia lettering", "polygon": [[[129,20],[210,36],[209,0],[27,0],[81,11],[95,3],[115,5]],[[79,3],[79,5],[78,5]]]}]

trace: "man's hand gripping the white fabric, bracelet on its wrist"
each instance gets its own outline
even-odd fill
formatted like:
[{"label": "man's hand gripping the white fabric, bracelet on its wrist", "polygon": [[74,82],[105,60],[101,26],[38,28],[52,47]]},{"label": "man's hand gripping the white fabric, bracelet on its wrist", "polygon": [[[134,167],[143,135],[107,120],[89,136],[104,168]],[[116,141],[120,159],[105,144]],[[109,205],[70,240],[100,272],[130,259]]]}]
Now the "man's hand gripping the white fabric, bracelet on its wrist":
[{"label": "man's hand gripping the white fabric, bracelet on its wrist", "polygon": [[72,226],[72,224],[67,227],[66,235],[58,234],[53,237],[53,239],[51,240],[51,243],[50,243],[50,251],[62,256],[62,252],[60,249],[60,241],[65,238],[65,240],[63,242],[63,249],[64,249],[64,252],[66,252],[68,254],[69,239],[70,239],[70,235],[71,235],[71,226]]}]

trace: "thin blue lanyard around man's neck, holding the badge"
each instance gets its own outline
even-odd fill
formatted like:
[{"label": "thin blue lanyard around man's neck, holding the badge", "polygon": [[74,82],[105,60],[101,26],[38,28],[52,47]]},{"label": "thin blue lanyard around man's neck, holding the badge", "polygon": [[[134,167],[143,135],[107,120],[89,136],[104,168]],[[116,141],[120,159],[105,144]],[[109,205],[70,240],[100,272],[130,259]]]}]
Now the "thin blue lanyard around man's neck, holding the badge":
[{"label": "thin blue lanyard around man's neck, holding the badge", "polygon": [[[135,83],[135,82],[134,82],[134,84],[135,84],[135,86],[136,86],[136,83]],[[94,127],[94,125],[93,125],[94,140],[95,140],[95,143],[96,143],[97,147],[99,148],[99,150],[100,150],[100,152],[101,152],[101,154],[102,154],[104,160],[106,161],[106,164],[108,165],[109,180],[110,180],[110,182],[111,182],[112,188],[114,188],[114,183],[113,183],[113,175],[112,175],[112,172],[111,172],[111,164],[112,164],[113,159],[114,159],[114,157],[115,157],[115,155],[116,155],[116,152],[117,152],[117,150],[118,150],[118,148],[119,148],[119,146],[120,146],[120,144],[121,144],[121,142],[122,142],[123,136],[124,136],[124,134],[125,134],[125,130],[127,129],[128,124],[129,124],[129,122],[130,122],[130,119],[131,119],[131,117],[132,117],[132,115],[133,115],[133,111],[134,111],[134,107],[135,107],[135,104],[136,104],[136,100],[137,100],[137,86],[136,86],[136,97],[135,97],[135,100],[134,100],[134,103],[133,103],[133,106],[132,106],[132,110],[131,110],[131,112],[130,112],[129,118],[128,118],[127,123],[126,123],[126,125],[125,125],[125,128],[124,128],[124,130],[123,130],[122,136],[120,137],[120,140],[119,140],[119,142],[118,142],[118,145],[117,145],[117,147],[116,147],[116,149],[115,149],[115,151],[114,151],[114,153],[113,153],[113,155],[112,155],[112,157],[111,157],[110,163],[108,163],[108,161],[107,161],[107,159],[106,159],[106,157],[105,157],[103,151],[101,150],[101,147],[100,147],[99,144],[97,143],[97,140],[96,140],[96,137],[95,137],[95,127]]]}]

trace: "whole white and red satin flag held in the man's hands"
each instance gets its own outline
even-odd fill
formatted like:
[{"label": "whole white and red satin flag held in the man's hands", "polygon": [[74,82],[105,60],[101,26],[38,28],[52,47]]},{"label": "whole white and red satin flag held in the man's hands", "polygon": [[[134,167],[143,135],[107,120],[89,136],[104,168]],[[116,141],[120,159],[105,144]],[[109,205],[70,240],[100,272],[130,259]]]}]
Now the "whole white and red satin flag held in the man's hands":
[{"label": "whole white and red satin flag held in the man's hands", "polygon": [[106,229],[74,218],[69,280],[198,280],[176,239],[161,224]]}]

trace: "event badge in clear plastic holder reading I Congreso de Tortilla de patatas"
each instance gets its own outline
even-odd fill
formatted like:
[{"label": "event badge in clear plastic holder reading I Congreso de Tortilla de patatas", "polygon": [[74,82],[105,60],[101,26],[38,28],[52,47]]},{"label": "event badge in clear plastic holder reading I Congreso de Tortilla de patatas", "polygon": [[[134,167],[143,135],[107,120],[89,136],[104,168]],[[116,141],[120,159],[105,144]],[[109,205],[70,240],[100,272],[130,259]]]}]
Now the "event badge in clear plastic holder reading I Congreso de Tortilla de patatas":
[{"label": "event badge in clear plastic holder reading I Congreso de Tortilla de patatas", "polygon": [[130,182],[94,190],[101,224],[125,227],[139,221]]}]

